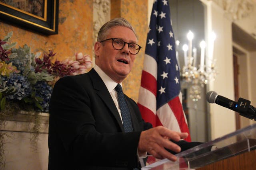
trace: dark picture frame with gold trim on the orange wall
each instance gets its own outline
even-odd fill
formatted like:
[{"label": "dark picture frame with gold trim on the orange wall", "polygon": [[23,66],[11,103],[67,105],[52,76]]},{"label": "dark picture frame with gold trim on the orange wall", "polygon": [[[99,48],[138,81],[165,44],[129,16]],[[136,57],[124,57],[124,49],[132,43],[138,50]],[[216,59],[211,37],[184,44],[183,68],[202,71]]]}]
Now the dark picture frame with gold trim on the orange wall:
[{"label": "dark picture frame with gold trim on the orange wall", "polygon": [[0,21],[37,31],[58,34],[59,0],[0,0]]}]

